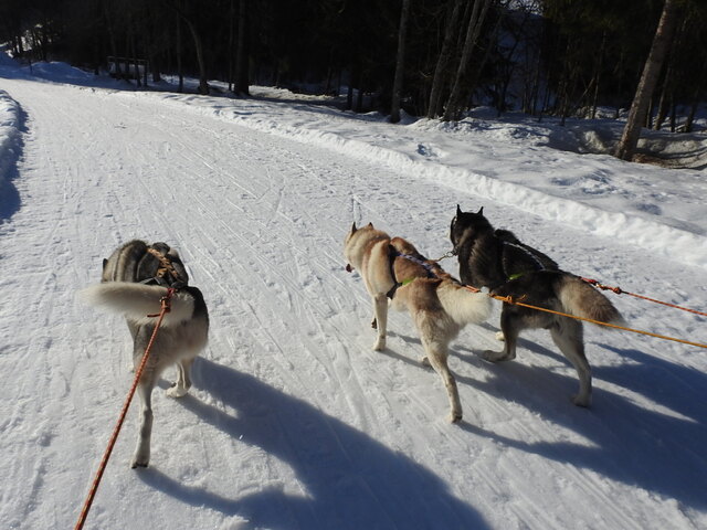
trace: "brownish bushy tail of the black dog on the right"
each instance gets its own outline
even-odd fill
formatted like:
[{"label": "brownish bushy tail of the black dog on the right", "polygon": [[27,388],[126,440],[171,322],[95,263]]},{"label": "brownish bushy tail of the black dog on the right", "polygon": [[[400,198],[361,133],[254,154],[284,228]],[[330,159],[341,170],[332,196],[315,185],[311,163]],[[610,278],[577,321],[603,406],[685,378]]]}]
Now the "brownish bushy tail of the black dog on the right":
[{"label": "brownish bushy tail of the black dog on the right", "polygon": [[616,326],[624,324],[623,317],[609,298],[578,276],[562,275],[558,297],[564,312]]}]

